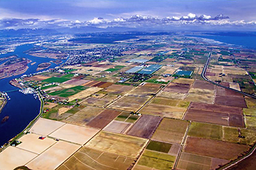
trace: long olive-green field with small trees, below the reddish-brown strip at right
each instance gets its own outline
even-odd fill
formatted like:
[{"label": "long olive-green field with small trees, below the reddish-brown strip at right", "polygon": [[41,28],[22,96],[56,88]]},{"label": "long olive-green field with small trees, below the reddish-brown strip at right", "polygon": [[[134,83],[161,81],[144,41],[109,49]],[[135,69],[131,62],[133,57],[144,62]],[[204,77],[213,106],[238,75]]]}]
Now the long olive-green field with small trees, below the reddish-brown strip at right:
[{"label": "long olive-green field with small trees, below the reddish-brown strip at right", "polygon": [[[256,122],[256,120],[254,120]],[[256,123],[255,123],[256,124]],[[255,130],[241,129],[241,135],[244,138],[238,137],[239,131],[234,127],[225,127],[221,125],[213,125],[209,123],[191,123],[189,128],[189,136],[200,137],[206,139],[214,139],[219,141],[227,141],[231,143],[253,144],[256,141]]]}]

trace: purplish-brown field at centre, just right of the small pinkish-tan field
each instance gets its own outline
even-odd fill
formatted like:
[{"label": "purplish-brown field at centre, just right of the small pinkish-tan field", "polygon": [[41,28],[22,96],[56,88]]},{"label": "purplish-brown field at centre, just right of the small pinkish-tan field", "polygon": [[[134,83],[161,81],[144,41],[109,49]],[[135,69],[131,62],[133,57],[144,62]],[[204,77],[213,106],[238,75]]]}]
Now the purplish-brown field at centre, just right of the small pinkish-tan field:
[{"label": "purplish-brown field at centre, just right of the small pinkish-tan field", "polygon": [[136,121],[127,134],[150,139],[160,121],[160,117],[143,115]]}]

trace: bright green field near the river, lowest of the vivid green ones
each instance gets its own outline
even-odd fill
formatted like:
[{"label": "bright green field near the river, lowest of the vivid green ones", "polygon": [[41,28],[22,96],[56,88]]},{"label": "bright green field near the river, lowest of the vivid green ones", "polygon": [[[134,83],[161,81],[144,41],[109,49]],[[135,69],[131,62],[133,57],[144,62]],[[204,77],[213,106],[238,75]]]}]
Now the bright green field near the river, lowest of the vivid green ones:
[{"label": "bright green field near the river, lowest of the vivid green ones", "polygon": [[49,93],[51,96],[58,96],[58,97],[70,97],[72,95],[75,95],[76,93],[79,93],[80,91],[83,91],[84,89],[87,89],[88,87],[84,86],[75,86],[72,88],[67,89],[61,89],[59,91],[54,91],[52,93]]}]

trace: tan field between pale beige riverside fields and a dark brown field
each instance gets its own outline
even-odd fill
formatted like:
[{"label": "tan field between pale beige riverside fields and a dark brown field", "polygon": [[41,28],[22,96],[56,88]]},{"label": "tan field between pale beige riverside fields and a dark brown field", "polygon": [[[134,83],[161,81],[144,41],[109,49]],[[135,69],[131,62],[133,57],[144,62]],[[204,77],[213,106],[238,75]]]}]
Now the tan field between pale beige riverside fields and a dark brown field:
[{"label": "tan field between pale beige riverside fields and a dark brown field", "polygon": [[86,125],[89,121],[93,120],[100,112],[104,111],[100,107],[86,106],[80,111],[76,112],[74,115],[63,120],[67,123],[72,123],[75,125]]}]

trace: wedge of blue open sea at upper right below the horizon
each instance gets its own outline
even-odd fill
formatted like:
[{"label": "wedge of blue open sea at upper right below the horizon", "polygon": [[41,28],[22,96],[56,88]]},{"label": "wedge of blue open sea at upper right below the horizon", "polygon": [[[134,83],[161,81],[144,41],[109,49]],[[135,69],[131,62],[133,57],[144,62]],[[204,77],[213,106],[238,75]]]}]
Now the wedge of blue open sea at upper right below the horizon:
[{"label": "wedge of blue open sea at upper right below the horizon", "polygon": [[218,42],[241,45],[250,49],[256,49],[256,36],[196,35],[196,37],[208,38]]}]

